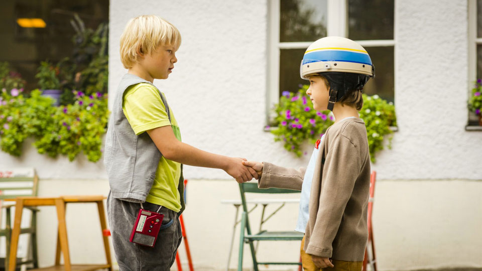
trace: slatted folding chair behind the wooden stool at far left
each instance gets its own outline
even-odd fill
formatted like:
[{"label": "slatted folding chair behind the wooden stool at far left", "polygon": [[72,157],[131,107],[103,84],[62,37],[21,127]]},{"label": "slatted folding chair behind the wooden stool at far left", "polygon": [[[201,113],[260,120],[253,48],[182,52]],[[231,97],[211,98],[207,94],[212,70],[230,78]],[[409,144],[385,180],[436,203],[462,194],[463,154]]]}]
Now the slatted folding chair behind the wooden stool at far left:
[{"label": "slatted folding chair behind the wooden stool at far left", "polygon": [[[17,197],[37,196],[38,176],[33,168],[16,169],[16,170],[0,170],[0,200],[14,200]],[[6,237],[6,257],[4,259],[5,270],[9,265],[10,239],[12,236],[12,211],[11,208],[15,205],[2,206],[2,211],[6,211],[6,226],[5,229],[0,229],[0,236]],[[20,233],[31,234],[30,251],[32,258],[22,260],[17,258],[17,266],[20,270],[22,264],[33,264],[34,268],[38,268],[38,253],[37,253],[37,212],[34,207],[24,207],[32,211],[32,218],[28,228],[22,228]],[[27,253],[27,258],[29,253]]]}]

